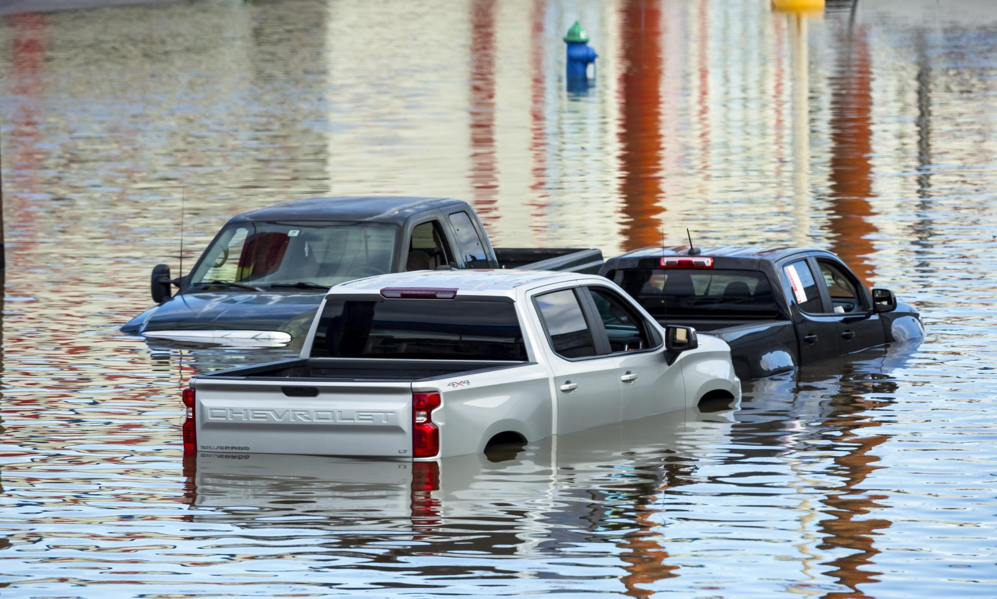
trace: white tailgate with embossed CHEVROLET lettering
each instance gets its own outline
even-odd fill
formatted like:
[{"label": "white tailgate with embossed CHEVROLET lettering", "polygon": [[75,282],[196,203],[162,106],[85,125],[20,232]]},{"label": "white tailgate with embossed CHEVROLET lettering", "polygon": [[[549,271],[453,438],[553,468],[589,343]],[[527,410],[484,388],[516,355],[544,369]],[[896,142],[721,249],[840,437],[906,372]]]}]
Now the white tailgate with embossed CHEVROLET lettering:
[{"label": "white tailgate with embossed CHEVROLET lettering", "polygon": [[196,380],[197,449],[412,456],[408,382]]}]

